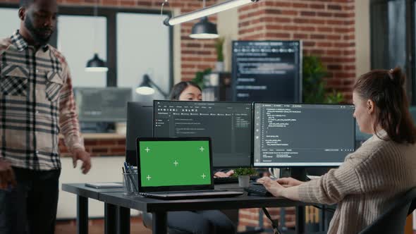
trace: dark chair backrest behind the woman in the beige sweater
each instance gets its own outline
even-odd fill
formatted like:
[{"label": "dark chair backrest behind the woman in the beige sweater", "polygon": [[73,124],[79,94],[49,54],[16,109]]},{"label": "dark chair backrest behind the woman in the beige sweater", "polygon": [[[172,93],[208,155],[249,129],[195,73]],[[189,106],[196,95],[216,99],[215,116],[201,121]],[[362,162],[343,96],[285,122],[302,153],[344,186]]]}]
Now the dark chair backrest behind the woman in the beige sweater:
[{"label": "dark chair backrest behind the woman in the beige sweater", "polygon": [[367,226],[360,234],[404,233],[406,217],[416,208],[416,187],[399,197],[381,214],[376,221]]}]

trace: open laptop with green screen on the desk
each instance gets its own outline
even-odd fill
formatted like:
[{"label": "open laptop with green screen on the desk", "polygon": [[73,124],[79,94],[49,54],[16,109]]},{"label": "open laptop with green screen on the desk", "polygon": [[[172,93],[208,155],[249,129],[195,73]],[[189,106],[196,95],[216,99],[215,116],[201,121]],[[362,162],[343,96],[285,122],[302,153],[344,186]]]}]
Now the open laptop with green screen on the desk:
[{"label": "open laptop with green screen on the desk", "polygon": [[234,197],[214,190],[209,137],[137,138],[139,194],[158,199]]}]

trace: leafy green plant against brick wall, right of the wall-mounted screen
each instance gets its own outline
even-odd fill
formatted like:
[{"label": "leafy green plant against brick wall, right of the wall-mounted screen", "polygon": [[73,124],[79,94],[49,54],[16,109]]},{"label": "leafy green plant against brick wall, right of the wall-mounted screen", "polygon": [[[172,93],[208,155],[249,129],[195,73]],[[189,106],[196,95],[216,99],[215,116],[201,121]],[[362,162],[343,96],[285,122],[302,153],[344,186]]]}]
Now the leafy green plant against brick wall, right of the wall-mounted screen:
[{"label": "leafy green plant against brick wall, right of the wall-mounted screen", "polygon": [[317,56],[303,57],[303,102],[304,103],[329,103],[336,104],[344,100],[343,94],[332,89],[327,92],[327,75],[324,65]]}]

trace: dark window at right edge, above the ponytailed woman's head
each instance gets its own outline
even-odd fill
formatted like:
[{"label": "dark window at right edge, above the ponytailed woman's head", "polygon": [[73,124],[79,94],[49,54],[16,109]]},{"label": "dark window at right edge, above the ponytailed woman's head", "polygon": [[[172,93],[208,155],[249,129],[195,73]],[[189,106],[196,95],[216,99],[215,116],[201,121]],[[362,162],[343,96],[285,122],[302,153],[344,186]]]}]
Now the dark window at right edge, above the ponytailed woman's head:
[{"label": "dark window at right edge, above the ponytailed woman's head", "polygon": [[407,92],[415,105],[415,0],[372,0],[370,9],[372,69],[400,66],[408,76]]}]

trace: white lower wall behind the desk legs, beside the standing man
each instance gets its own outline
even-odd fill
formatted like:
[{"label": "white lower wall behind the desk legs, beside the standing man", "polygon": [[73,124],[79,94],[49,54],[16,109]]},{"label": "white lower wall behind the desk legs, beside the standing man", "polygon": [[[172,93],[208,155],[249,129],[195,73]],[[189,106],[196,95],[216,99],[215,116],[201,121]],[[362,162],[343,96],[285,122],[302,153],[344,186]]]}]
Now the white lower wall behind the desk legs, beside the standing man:
[{"label": "white lower wall behind the desk legs, beside the standing man", "polygon": [[[125,161],[123,156],[94,156],[91,158],[92,168],[90,173],[84,175],[78,167],[73,168],[71,158],[62,158],[61,178],[59,179],[59,202],[56,218],[76,218],[77,197],[70,192],[61,190],[63,183],[87,183],[87,182],[121,182],[121,166]],[[130,211],[131,215],[139,214],[136,210]],[[95,199],[88,199],[88,215],[90,217],[104,217],[104,203]]]}]

